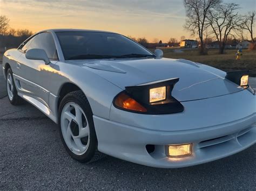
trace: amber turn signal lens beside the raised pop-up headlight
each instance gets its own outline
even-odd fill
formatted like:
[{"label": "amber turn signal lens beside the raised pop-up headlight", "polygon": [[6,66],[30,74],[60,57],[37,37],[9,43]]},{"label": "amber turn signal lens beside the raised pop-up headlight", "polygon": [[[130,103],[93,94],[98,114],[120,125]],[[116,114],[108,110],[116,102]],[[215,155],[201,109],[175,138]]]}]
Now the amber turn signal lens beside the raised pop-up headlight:
[{"label": "amber turn signal lens beside the raised pop-up headlight", "polygon": [[132,111],[139,111],[139,112],[146,112],[147,109],[144,108],[141,104],[139,104],[136,100],[131,98],[130,96],[121,93],[116,97],[116,100],[114,101],[114,104],[119,107],[126,110],[132,110]]}]

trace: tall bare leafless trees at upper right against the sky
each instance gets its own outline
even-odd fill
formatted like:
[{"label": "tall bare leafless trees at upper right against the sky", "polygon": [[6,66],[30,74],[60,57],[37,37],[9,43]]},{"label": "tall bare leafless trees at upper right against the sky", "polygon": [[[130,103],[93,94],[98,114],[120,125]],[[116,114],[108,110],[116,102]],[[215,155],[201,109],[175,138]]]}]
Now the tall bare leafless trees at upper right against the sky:
[{"label": "tall bare leafless trees at upper right against the sky", "polygon": [[250,34],[250,40],[255,47],[253,37],[255,11],[246,15],[239,13],[239,5],[223,3],[221,0],[184,0],[186,10],[185,29],[200,41],[200,54],[207,54],[205,39],[212,38],[219,43],[219,53],[223,54],[228,39],[244,38],[244,32]]}]

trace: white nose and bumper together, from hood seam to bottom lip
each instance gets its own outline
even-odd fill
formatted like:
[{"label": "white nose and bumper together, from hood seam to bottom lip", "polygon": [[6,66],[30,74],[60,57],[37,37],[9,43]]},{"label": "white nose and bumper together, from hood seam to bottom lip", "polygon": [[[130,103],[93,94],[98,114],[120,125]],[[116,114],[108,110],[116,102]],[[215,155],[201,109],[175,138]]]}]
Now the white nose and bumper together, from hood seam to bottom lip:
[{"label": "white nose and bumper together, from hood seam to bottom lip", "polygon": [[[247,102],[234,104],[239,98]],[[255,96],[248,91],[186,102],[184,107],[183,113],[172,115],[112,108],[111,120],[93,116],[98,150],[141,165],[178,168],[224,158],[256,143]],[[167,157],[166,145],[186,143],[193,144],[192,155]],[[146,145],[154,145],[153,152]]]}]

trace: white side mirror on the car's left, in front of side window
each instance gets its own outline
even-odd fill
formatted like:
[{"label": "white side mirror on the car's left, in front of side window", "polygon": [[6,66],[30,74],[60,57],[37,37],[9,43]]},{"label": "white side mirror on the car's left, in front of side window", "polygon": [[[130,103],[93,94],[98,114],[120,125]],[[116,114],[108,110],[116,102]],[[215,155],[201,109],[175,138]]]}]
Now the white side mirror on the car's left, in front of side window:
[{"label": "white side mirror on the car's left, in front of side window", "polygon": [[43,49],[33,48],[29,49],[26,54],[26,59],[29,60],[43,60],[46,65],[49,65],[50,60],[48,58],[48,55]]}]

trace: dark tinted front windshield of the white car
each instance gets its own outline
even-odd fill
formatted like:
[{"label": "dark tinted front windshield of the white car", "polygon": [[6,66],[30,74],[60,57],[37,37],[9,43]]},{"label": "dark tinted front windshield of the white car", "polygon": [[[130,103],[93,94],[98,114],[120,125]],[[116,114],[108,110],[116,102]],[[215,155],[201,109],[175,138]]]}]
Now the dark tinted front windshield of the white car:
[{"label": "dark tinted front windshield of the white car", "polygon": [[151,52],[121,34],[56,32],[65,60],[154,58]]}]

